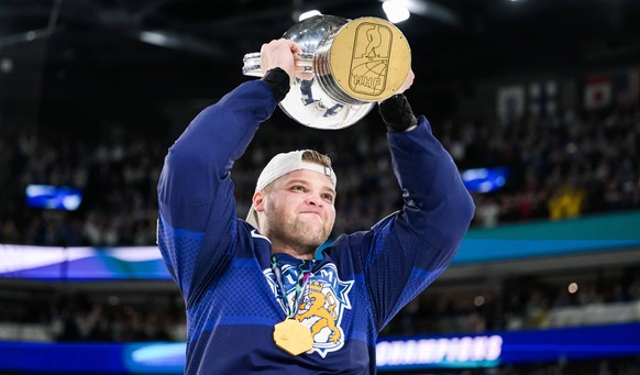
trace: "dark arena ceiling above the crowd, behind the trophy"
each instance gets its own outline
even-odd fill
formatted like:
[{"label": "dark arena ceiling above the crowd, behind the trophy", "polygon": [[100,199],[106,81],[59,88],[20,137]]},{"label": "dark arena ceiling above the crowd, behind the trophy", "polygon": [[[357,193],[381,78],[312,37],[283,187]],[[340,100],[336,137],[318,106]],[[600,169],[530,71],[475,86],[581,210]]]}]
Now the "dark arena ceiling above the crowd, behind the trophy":
[{"label": "dark arena ceiling above the crowd, behind the trophy", "polygon": [[[415,13],[398,27],[412,48],[418,89],[515,68],[640,62],[640,1],[413,3]],[[52,119],[216,98],[247,79],[242,56],[279,37],[300,11],[384,18],[380,5],[378,0],[2,0],[0,95],[31,85],[40,110]],[[153,43],[158,35],[162,46]]]}]

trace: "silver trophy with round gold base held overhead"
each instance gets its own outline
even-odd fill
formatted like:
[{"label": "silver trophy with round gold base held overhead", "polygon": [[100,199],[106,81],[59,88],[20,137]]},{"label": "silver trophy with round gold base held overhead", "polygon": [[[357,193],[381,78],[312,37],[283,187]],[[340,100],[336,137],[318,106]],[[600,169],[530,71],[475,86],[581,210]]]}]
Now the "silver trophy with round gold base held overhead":
[{"label": "silver trophy with round gold base held overhead", "polygon": [[[316,129],[338,130],[364,118],[396,93],[411,70],[411,52],[402,33],[378,18],[347,20],[315,15],[283,34],[296,42],[296,78],[279,103],[287,115]],[[262,77],[260,53],[244,55],[242,73]]]}]

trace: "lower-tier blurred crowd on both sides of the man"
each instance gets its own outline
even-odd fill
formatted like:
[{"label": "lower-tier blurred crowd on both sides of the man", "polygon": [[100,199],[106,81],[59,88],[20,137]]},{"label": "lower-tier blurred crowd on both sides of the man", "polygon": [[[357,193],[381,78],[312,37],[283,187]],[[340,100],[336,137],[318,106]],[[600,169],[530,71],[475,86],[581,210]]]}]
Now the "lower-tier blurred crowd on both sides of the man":
[{"label": "lower-tier blurred crowd on both sides of the man", "polygon": [[[640,320],[638,265],[599,282],[580,282],[580,276],[576,280],[572,286],[545,278],[506,279],[461,290],[434,285],[401,309],[380,334],[473,334]],[[95,293],[59,285],[54,290],[27,287],[9,298],[0,296],[0,339],[3,324],[32,324],[44,332],[34,340],[186,340],[185,305],[177,288],[166,282],[153,293],[143,290],[135,283]],[[567,309],[572,318],[563,319]],[[13,339],[20,337],[24,334],[18,332]]]}]

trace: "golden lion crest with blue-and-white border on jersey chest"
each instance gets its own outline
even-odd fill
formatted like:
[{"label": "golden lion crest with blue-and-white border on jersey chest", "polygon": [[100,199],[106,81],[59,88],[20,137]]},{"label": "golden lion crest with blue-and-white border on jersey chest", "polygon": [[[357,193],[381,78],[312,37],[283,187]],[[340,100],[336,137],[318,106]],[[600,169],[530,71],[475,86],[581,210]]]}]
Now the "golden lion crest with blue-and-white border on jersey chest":
[{"label": "golden lion crest with blue-and-white border on jersey chest", "polygon": [[[282,298],[278,298],[273,272],[265,272],[265,276],[278,301],[284,304]],[[351,309],[349,291],[352,286],[353,280],[342,282],[338,277],[338,271],[333,264],[324,265],[309,278],[301,298],[297,301],[296,315],[296,319],[309,328],[313,338],[313,349],[308,353],[317,352],[325,357],[327,353],[335,352],[344,345],[342,316],[344,309]],[[287,299],[293,301],[295,288],[287,289]],[[286,311],[284,306],[283,309]]]}]

